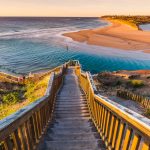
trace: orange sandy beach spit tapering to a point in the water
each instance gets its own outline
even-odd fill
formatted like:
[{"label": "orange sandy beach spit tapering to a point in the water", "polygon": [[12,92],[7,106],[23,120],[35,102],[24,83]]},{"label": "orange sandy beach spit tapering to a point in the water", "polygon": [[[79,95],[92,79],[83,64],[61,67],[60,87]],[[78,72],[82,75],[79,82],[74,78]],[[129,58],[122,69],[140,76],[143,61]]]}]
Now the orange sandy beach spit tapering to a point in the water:
[{"label": "orange sandy beach spit tapering to a point in the water", "polygon": [[127,24],[107,20],[110,26],[91,30],[65,33],[78,42],[86,42],[91,45],[106,46],[123,50],[142,50],[150,53],[150,32],[141,31]]}]

